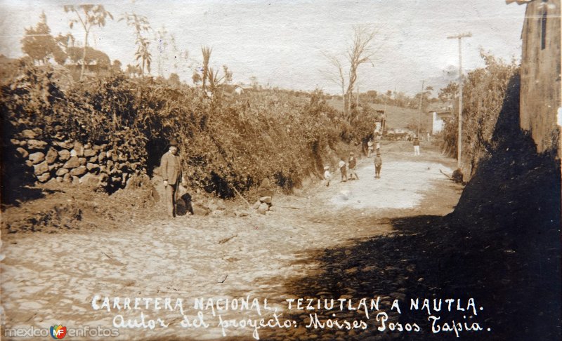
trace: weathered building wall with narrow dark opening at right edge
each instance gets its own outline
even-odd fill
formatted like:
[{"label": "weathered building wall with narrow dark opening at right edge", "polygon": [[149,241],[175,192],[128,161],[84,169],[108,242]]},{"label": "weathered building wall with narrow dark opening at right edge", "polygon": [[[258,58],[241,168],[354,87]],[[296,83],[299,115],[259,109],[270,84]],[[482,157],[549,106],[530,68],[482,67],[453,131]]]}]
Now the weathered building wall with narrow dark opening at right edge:
[{"label": "weathered building wall with narrow dark opening at right edge", "polygon": [[527,5],[521,59],[521,128],[530,131],[537,152],[558,153],[561,103],[561,0],[534,0]]}]

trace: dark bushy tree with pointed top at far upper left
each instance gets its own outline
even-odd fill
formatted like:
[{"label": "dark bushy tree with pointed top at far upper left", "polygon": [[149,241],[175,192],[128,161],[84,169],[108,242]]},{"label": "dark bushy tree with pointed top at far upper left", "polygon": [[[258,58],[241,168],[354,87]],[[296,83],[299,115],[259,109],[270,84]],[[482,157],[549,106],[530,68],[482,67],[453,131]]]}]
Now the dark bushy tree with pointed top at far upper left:
[{"label": "dark bushy tree with pointed top at far upper left", "polygon": [[45,64],[49,58],[55,58],[60,64],[65,62],[65,53],[51,36],[45,12],[39,16],[39,22],[35,27],[25,29],[25,36],[21,43],[23,53],[29,55],[34,62]]}]

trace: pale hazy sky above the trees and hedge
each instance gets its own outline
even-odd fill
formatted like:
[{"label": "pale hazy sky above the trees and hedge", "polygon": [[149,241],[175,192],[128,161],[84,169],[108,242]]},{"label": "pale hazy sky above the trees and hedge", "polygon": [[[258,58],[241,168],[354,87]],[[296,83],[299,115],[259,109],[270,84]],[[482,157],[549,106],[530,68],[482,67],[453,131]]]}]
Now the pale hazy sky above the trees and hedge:
[{"label": "pale hazy sky above the trees and hedge", "polygon": [[[81,28],[69,28],[73,15],[63,11],[69,2],[0,0],[0,53],[10,58],[23,55],[20,41],[25,27],[36,25],[41,11],[51,34],[70,32],[77,45],[84,44]],[[473,34],[462,40],[464,72],[483,67],[481,51],[507,61],[520,60],[525,15],[525,6],[507,5],[504,0],[124,0],[94,4],[103,4],[115,20],[93,28],[89,46],[123,65],[136,64],[136,46],[133,29],[119,18],[134,12],[145,15],[154,32],[163,27],[168,32],[164,41],[155,33],[148,34],[154,76],[175,72],[191,84],[193,72],[202,65],[201,47],[210,46],[211,65],[227,65],[234,83],[248,84],[254,76],[263,86],[320,88],[326,93],[341,93],[341,88],[330,80],[336,69],[325,55],[338,56],[347,69],[346,50],[355,25],[377,32],[372,63],[358,70],[360,91],[396,90],[413,95],[421,90],[422,81],[438,91],[457,79],[458,41],[447,36]],[[170,44],[171,36],[176,49]]]}]

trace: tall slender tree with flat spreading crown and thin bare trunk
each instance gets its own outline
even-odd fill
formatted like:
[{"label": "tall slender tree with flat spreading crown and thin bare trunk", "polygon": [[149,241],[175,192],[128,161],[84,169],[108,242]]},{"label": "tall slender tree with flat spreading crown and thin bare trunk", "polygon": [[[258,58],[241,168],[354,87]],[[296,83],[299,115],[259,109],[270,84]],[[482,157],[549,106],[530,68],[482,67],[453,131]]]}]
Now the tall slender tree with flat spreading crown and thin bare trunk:
[{"label": "tall slender tree with flat spreading crown and thin bare trunk", "polygon": [[74,24],[80,23],[84,29],[84,50],[82,51],[82,68],[80,71],[80,80],[84,78],[84,68],[86,67],[86,46],[88,46],[88,36],[90,30],[94,26],[103,27],[105,26],[105,20],[110,18],[113,20],[113,15],[102,5],[65,5],[66,13],[74,13],[77,18],[70,20],[69,26],[72,29]]}]

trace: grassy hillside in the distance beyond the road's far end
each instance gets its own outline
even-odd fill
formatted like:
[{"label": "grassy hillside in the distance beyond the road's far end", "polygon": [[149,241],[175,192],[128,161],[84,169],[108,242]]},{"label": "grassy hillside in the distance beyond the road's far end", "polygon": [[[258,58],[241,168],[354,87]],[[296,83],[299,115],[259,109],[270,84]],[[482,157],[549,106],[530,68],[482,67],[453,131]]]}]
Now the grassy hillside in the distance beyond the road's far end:
[{"label": "grassy hillside in the distance beyond the road's far end", "polygon": [[[326,102],[334,109],[341,111],[341,100],[331,99],[327,100]],[[388,128],[406,128],[408,124],[417,126],[417,119],[419,114],[418,110],[379,103],[369,103],[369,105],[374,110],[384,110],[386,112],[386,123],[388,125]],[[426,126],[427,128],[431,128],[431,114],[422,113],[420,121],[421,127]]]}]

